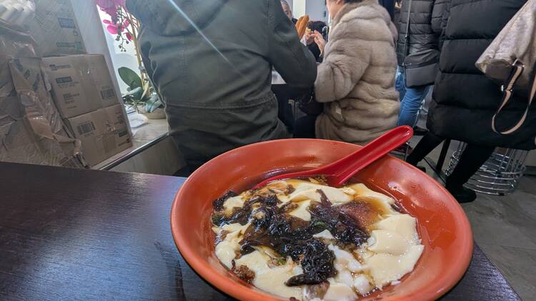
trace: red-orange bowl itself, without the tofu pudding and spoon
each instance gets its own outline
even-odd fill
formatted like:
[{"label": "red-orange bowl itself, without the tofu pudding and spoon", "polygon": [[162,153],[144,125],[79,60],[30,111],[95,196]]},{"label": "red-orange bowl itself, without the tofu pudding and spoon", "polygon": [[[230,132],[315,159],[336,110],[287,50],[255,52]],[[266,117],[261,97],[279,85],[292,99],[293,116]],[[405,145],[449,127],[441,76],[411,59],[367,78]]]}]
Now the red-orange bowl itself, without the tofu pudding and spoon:
[{"label": "red-orange bowl itself, without the tofu pudding and spoon", "polygon": [[[359,149],[334,141],[294,139],[257,143],[224,153],[199,168],[177,193],[171,223],[182,256],[205,280],[239,300],[279,300],[239,280],[214,255],[212,201],[228,190],[251,188],[268,175],[317,168]],[[425,250],[402,283],[368,298],[434,300],[450,290],[471,260],[472,231],[464,211],[440,184],[402,160],[387,156],[365,168],[357,181],[392,195],[410,215]]]}]

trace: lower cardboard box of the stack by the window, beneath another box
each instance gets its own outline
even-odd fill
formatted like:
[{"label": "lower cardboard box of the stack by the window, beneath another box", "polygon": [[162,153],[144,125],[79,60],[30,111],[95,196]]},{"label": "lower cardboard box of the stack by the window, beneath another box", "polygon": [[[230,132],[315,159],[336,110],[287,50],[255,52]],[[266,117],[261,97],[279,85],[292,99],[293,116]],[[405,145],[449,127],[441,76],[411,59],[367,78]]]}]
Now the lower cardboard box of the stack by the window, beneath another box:
[{"label": "lower cardboard box of the stack by the window, beneath another box", "polygon": [[81,151],[90,166],[132,146],[121,105],[69,118],[66,123],[82,142]]}]

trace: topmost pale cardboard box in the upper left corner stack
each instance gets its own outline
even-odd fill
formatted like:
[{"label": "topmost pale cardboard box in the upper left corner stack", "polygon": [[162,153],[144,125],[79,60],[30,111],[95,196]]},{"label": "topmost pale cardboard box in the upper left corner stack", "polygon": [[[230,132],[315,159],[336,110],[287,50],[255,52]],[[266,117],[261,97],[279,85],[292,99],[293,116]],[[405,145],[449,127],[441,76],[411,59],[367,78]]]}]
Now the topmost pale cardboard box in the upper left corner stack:
[{"label": "topmost pale cardboard box in the upper left corner stack", "polygon": [[86,53],[84,40],[69,0],[36,0],[34,19],[29,21],[38,54],[57,56]]}]

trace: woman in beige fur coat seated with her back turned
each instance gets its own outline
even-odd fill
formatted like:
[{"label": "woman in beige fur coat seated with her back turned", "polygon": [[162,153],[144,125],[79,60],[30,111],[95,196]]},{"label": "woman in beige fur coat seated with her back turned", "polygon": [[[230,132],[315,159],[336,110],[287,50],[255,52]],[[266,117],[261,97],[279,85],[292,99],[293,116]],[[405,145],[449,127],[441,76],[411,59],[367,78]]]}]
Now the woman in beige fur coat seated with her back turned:
[{"label": "woman in beige fur coat seated with her back turned", "polygon": [[329,42],[314,32],[324,56],[314,91],[324,111],[298,120],[295,137],[366,144],[397,126],[397,32],[377,0],[327,0],[327,9]]}]

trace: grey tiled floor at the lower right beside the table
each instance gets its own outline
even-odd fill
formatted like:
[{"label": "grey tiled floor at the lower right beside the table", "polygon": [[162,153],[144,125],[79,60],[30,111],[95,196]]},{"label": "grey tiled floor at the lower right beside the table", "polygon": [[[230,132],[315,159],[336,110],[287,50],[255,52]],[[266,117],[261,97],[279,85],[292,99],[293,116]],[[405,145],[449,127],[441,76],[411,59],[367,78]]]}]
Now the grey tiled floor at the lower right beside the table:
[{"label": "grey tiled floor at the lower right beside the table", "polygon": [[[418,140],[414,138],[412,145]],[[451,146],[445,166],[456,147]],[[437,148],[429,158],[437,161],[439,151]],[[536,177],[522,178],[512,195],[479,194],[475,202],[462,207],[475,241],[487,257],[523,300],[536,300]]]}]

